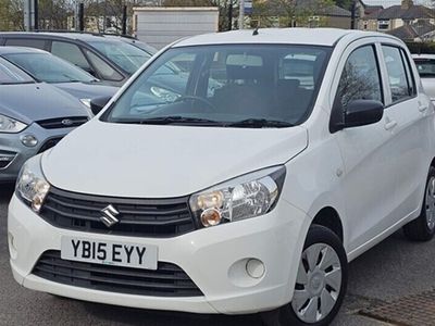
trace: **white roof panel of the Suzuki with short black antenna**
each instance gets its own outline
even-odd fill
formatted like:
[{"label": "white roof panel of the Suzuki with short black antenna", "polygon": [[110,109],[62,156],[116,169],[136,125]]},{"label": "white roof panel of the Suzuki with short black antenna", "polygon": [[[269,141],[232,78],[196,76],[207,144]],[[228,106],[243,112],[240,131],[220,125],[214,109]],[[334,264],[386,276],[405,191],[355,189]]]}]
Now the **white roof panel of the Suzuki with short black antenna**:
[{"label": "white roof panel of the Suzuki with short black antenna", "polygon": [[352,35],[355,38],[390,37],[381,33],[339,28],[262,28],[257,29],[257,34],[252,29],[243,29],[198,35],[185,38],[173,47],[224,43],[284,43],[332,47],[347,35]]}]

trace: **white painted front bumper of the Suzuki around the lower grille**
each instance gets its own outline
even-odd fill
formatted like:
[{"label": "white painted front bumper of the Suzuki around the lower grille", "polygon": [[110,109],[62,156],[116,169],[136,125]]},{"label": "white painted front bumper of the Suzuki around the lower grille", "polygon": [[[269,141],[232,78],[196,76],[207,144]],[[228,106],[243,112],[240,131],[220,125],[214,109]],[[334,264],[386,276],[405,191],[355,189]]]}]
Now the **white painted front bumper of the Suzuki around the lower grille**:
[{"label": "white painted front bumper of the Suzuki around the lower grille", "polygon": [[[279,200],[268,215],[183,236],[158,239],[86,234],[46,223],[14,195],[9,206],[8,237],[15,280],[29,289],[94,302],[195,313],[244,314],[268,311],[291,300],[304,229],[304,213]],[[61,237],[154,244],[161,262],[178,265],[203,297],[167,298],[124,294],[58,284],[32,274],[47,250],[60,250]],[[246,259],[265,265],[262,278],[246,272]]]}]

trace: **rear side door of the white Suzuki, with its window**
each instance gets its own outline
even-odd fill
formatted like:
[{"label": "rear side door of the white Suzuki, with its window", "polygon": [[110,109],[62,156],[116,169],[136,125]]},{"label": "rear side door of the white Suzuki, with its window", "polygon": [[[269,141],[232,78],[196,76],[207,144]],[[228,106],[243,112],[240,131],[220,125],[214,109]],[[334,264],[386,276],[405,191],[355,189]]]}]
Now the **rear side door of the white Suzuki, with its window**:
[{"label": "rear side door of the white Suzuki, with its window", "polygon": [[431,142],[433,110],[430,100],[417,90],[411,58],[397,42],[382,45],[382,57],[387,80],[385,120],[396,147],[396,187],[394,188],[397,214],[388,224],[399,223],[419,214],[423,201],[428,166],[432,158]]}]

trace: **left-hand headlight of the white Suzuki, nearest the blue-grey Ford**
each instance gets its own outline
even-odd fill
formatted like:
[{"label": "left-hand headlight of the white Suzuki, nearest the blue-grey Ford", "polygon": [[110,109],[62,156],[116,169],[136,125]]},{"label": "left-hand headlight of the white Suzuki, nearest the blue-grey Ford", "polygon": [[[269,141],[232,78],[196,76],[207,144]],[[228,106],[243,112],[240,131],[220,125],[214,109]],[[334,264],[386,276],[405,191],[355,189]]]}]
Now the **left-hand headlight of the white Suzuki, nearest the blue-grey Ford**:
[{"label": "left-hand headlight of the white Suzuki, nearest the blue-grey Ford", "polygon": [[37,213],[50,190],[40,167],[40,158],[34,156],[23,165],[15,188],[16,195]]}]

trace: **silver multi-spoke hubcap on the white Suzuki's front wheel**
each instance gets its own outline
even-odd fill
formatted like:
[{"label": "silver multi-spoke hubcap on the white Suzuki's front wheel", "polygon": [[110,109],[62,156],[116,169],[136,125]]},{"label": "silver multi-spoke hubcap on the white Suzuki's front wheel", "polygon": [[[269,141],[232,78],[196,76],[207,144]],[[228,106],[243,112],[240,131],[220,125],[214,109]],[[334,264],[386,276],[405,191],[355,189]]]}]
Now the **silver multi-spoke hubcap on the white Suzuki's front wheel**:
[{"label": "silver multi-spoke hubcap on the white Suzuki's front wheel", "polygon": [[341,264],[337,253],[328,244],[314,243],[302,252],[291,308],[302,322],[316,323],[332,312],[340,288]]}]

